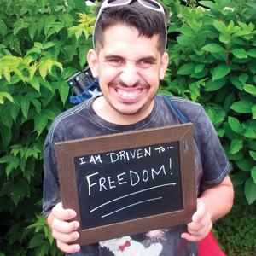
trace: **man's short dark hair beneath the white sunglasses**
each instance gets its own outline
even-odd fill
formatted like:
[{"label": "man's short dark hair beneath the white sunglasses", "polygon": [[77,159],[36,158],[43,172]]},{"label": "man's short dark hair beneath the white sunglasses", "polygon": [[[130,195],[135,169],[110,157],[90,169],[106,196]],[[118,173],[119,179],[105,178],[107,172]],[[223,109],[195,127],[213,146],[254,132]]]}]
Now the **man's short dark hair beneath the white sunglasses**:
[{"label": "man's short dark hair beneath the white sunglasses", "polygon": [[96,49],[103,47],[103,33],[107,26],[123,24],[137,29],[139,36],[153,38],[160,34],[159,49],[163,54],[166,49],[166,16],[159,11],[148,9],[142,4],[133,2],[129,5],[115,6],[103,10],[94,30]]}]

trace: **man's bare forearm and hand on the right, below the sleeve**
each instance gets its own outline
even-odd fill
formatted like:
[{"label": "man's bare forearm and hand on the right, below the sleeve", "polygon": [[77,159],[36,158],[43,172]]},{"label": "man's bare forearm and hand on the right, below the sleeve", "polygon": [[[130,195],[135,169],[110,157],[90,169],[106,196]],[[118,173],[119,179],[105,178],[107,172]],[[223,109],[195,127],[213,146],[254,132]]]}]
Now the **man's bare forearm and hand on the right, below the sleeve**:
[{"label": "man's bare forearm and hand on the right, below the sleeve", "polygon": [[188,224],[188,233],[182,237],[188,241],[201,241],[212,229],[212,222],[230,212],[233,206],[234,190],[230,177],[212,188],[203,187],[203,193],[197,199],[197,211]]}]

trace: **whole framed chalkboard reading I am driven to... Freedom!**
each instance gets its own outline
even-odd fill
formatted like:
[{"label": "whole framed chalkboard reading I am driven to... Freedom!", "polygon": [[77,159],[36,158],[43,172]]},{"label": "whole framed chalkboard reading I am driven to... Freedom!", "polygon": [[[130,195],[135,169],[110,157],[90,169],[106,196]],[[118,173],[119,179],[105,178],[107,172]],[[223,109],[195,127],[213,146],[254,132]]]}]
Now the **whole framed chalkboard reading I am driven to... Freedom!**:
[{"label": "whole framed chalkboard reading I am driven to... Freedom!", "polygon": [[193,125],[56,143],[79,244],[185,224],[196,209]]}]

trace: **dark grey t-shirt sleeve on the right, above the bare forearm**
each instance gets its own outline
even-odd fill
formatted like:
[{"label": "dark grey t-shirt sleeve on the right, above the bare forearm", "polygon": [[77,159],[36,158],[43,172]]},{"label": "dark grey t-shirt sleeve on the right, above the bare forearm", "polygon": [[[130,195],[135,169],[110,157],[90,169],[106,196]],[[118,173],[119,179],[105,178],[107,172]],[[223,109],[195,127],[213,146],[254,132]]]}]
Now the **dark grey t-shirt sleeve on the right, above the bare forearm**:
[{"label": "dark grey t-shirt sleeve on the right, above the bare forearm", "polygon": [[[212,187],[223,182],[230,172],[230,164],[224,154],[217,132],[204,108],[200,104],[184,100],[174,103],[180,111],[193,123],[194,137],[200,152],[202,177],[201,185]],[[183,102],[183,103],[184,103]],[[185,106],[185,107],[184,107]]]}]

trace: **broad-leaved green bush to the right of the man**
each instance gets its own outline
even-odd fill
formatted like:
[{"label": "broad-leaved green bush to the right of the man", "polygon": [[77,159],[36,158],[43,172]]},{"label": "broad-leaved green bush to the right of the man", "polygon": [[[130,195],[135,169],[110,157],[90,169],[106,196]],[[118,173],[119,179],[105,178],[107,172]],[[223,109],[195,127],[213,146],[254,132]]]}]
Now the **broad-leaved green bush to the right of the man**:
[{"label": "broad-leaved green bush to the right of the man", "polygon": [[[160,91],[200,102],[232,167],[235,188],[256,199],[256,3],[200,1],[169,32],[169,70]],[[179,19],[177,19],[177,16]],[[172,37],[170,37],[172,38]]]}]

